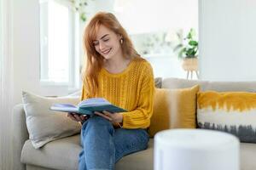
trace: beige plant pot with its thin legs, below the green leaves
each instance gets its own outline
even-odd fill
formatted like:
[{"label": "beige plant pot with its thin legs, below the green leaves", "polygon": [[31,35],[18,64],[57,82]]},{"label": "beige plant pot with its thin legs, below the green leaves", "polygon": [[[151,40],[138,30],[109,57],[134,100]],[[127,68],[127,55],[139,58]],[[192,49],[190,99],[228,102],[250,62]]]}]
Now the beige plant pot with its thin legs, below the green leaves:
[{"label": "beige plant pot with its thin legs, below the green leaves", "polygon": [[187,71],[187,79],[189,79],[189,73],[190,79],[193,78],[193,72],[195,72],[197,79],[199,78],[197,58],[183,59],[182,67],[184,71]]}]

